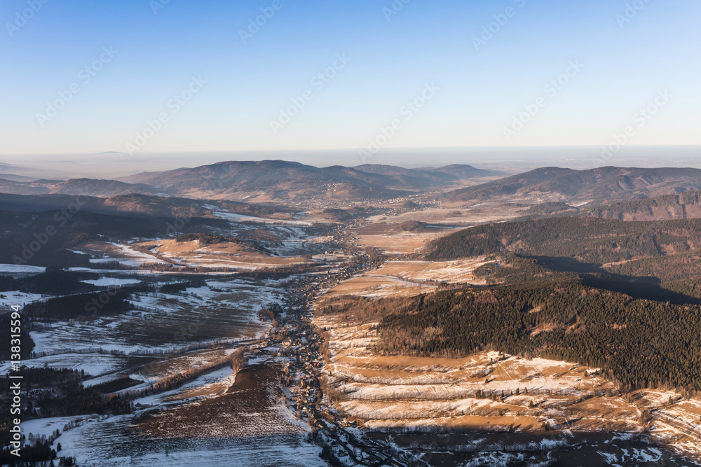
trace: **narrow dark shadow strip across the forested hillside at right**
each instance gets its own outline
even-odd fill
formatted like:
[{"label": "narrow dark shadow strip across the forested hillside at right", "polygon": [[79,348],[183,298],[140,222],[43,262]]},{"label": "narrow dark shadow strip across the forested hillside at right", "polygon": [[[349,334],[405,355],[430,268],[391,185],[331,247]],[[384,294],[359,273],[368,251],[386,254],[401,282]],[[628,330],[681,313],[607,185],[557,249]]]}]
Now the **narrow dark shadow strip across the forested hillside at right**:
[{"label": "narrow dark shadow strip across the forested hillside at right", "polygon": [[552,270],[576,272],[580,274],[583,284],[587,286],[625,293],[633,298],[670,302],[674,305],[701,304],[701,299],[699,298],[663,288],[660,279],[657,277],[613,274],[600,265],[581,263],[572,258],[557,258],[552,256],[531,256],[531,258]]}]

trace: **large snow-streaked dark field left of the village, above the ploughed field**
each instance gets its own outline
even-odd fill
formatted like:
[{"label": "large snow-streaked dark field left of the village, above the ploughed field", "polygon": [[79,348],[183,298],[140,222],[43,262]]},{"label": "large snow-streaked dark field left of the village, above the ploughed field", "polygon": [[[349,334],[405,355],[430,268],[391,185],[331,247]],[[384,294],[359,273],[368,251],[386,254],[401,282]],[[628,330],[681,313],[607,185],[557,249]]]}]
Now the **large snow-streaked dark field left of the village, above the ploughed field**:
[{"label": "large snow-streaked dark field left of the village, above the ploughed field", "polygon": [[130,312],[57,321],[33,330],[34,353],[48,355],[25,363],[83,369],[97,376],[114,371],[124,361],[121,355],[98,354],[98,349],[148,355],[193,342],[253,339],[269,326],[258,320],[257,311],[280,302],[283,296],[275,281],[247,279],[212,280],[207,286],[188,288],[186,292],[134,294],[130,302],[135,309]]}]

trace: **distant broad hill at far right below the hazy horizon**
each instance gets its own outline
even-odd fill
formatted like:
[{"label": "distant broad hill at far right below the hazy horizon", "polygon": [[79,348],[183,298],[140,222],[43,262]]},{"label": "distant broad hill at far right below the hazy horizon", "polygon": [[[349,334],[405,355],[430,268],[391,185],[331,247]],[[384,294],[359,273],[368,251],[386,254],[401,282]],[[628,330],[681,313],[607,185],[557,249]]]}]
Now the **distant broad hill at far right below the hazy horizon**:
[{"label": "distant broad hill at far right below the hazy horizon", "polygon": [[449,201],[531,196],[551,201],[609,202],[701,189],[701,169],[601,167],[590,170],[543,167],[447,193]]}]

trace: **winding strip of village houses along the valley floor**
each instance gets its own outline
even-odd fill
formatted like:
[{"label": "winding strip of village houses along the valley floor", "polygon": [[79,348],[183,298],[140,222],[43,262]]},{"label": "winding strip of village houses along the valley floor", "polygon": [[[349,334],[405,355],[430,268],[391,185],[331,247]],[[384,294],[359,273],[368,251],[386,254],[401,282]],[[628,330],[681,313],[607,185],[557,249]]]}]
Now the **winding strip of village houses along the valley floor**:
[{"label": "winding strip of village houses along the valley floor", "polygon": [[295,293],[280,314],[281,323],[268,337],[251,346],[254,354],[285,357],[284,375],[280,378],[287,395],[287,405],[301,421],[311,426],[313,440],[322,446],[322,457],[336,466],[428,466],[416,456],[382,440],[365,435],[355,421],[343,416],[322,393],[321,371],[325,360],[323,340],[311,322],[312,303],[323,291],[339,282],[375,269],[382,263],[358,249],[349,228],[358,227],[359,221],[339,225],[332,231],[332,239],[339,254],[350,258],[326,274],[299,279]]}]

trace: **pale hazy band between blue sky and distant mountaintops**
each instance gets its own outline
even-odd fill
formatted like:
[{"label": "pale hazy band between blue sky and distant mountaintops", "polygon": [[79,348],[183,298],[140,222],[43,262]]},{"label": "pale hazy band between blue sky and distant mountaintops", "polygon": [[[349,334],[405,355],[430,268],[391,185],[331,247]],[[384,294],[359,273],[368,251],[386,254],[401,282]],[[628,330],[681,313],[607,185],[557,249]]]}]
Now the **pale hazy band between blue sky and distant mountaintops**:
[{"label": "pale hazy band between blue sky and distant mountaintops", "polygon": [[[484,147],[484,148],[397,148],[384,150],[368,158],[358,150],[329,149],[317,151],[188,151],[143,153],[43,154],[4,156],[0,165],[3,174],[36,176],[37,178],[102,178],[118,179],[139,172],[161,172],[182,167],[198,167],[230,160],[287,160],[315,167],[363,164],[397,167],[442,167],[467,164],[479,169],[495,169],[505,174],[526,172],[538,167],[592,169],[615,167],[694,167],[701,168],[697,155],[701,146],[625,146],[610,158],[602,158],[599,146]],[[11,166],[8,167],[7,165]]]}]

